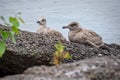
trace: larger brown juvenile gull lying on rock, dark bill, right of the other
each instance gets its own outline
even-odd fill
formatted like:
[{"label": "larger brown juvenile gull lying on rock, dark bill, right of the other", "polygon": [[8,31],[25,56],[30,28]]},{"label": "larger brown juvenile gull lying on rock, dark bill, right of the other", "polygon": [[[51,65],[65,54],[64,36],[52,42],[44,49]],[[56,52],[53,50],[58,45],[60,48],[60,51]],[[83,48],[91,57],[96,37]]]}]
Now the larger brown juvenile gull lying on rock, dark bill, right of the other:
[{"label": "larger brown juvenile gull lying on rock, dark bill, right of the other", "polygon": [[82,28],[78,22],[71,22],[68,26],[63,26],[63,29],[68,28],[68,38],[71,42],[87,43],[94,47],[104,45],[102,37],[92,30]]}]

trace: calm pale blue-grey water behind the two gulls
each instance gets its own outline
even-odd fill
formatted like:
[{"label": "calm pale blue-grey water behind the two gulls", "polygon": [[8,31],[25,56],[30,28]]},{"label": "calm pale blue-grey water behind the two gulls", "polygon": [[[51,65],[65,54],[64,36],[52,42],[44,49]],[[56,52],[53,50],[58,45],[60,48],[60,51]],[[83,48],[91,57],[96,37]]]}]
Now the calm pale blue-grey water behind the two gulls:
[{"label": "calm pale blue-grey water behind the two gulls", "polygon": [[22,30],[35,32],[37,20],[45,17],[49,27],[67,38],[68,30],[62,26],[78,21],[105,42],[120,44],[120,0],[0,0],[0,15],[7,18],[17,12],[25,21]]}]

